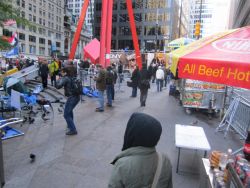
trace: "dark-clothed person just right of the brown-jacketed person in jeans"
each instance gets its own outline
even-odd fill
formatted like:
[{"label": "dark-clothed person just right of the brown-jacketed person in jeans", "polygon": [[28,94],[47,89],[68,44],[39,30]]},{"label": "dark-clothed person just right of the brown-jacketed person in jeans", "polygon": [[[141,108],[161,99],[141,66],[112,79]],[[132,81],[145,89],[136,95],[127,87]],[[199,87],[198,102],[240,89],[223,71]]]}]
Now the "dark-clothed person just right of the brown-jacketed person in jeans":
[{"label": "dark-clothed person just right of the brown-jacketed person in jeans", "polygon": [[112,107],[112,88],[114,85],[114,72],[111,66],[107,67],[106,72],[106,91],[107,91],[107,106]]}]

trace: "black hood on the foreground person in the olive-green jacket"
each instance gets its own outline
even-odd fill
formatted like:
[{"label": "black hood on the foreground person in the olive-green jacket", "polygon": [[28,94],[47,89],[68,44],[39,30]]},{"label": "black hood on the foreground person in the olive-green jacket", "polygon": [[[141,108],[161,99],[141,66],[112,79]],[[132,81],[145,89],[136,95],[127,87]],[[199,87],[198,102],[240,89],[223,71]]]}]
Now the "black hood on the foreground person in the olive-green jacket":
[{"label": "black hood on the foreground person in the olive-green jacket", "polygon": [[154,147],[162,132],[161,123],[154,117],[133,113],[128,121],[122,151],[136,146]]}]

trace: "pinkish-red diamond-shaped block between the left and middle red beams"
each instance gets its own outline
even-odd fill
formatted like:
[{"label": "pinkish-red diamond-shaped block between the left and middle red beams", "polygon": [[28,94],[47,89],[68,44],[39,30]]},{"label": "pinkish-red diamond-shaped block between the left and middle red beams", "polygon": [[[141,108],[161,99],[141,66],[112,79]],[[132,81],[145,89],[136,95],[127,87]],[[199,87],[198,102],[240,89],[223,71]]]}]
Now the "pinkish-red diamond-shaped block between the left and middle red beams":
[{"label": "pinkish-red diamond-shaped block between the left and middle red beams", "polygon": [[92,63],[97,63],[100,57],[100,42],[97,39],[93,39],[88,43],[84,49],[84,59],[89,58]]}]

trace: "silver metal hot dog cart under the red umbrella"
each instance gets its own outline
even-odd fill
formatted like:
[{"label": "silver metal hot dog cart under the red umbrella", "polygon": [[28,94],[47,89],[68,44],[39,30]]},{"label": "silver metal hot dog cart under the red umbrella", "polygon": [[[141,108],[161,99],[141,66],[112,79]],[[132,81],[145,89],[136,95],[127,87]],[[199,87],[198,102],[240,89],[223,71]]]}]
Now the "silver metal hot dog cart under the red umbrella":
[{"label": "silver metal hot dog cart under the red umbrella", "polygon": [[226,86],[182,79],[180,84],[180,100],[188,114],[192,108],[205,109],[208,113],[218,113],[224,108]]}]

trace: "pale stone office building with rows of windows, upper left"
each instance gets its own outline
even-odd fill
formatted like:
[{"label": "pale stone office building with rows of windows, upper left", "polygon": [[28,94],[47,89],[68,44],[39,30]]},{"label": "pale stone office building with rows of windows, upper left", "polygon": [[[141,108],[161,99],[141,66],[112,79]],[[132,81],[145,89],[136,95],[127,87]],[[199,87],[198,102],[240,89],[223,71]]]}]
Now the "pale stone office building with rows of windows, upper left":
[{"label": "pale stone office building with rows of windows, upper left", "polygon": [[[32,25],[18,25],[19,52],[26,56],[48,57],[64,54],[64,1],[17,0],[21,16]],[[13,31],[14,32],[14,31]]]}]

